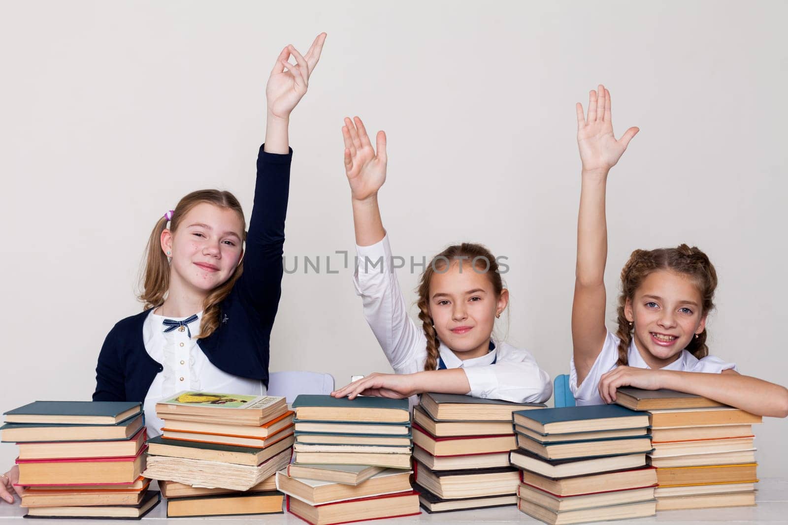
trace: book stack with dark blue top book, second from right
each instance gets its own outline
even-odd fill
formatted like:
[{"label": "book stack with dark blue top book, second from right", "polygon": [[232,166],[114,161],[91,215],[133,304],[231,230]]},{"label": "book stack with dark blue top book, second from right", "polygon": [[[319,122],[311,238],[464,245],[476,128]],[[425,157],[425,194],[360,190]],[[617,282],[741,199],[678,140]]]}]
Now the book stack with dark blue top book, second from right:
[{"label": "book stack with dark blue top book, second from right", "polygon": [[619,405],[515,412],[518,506],[545,523],[653,516],[649,417]]}]

